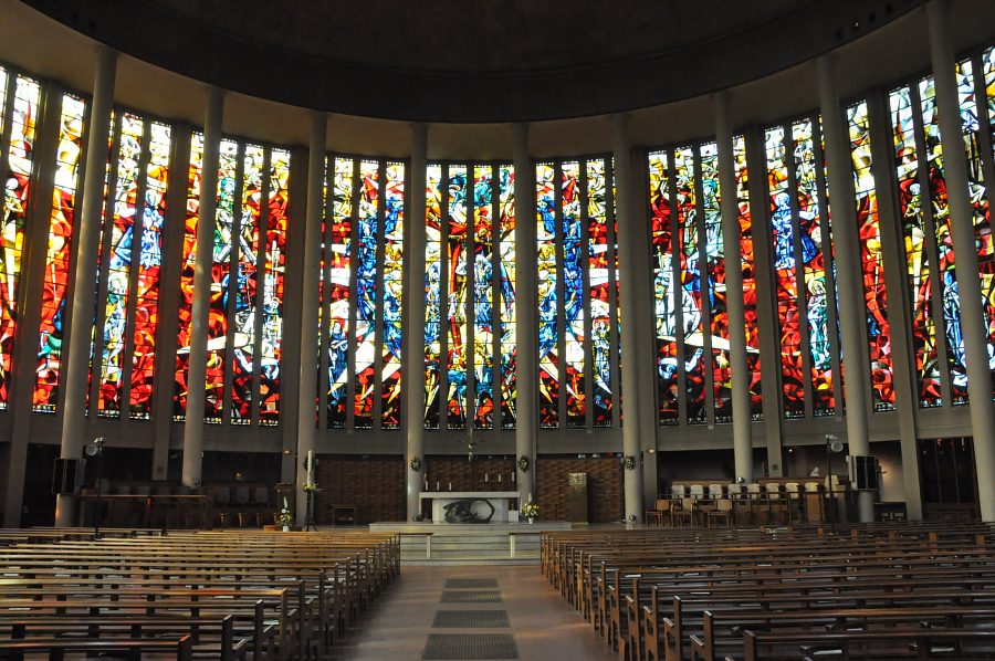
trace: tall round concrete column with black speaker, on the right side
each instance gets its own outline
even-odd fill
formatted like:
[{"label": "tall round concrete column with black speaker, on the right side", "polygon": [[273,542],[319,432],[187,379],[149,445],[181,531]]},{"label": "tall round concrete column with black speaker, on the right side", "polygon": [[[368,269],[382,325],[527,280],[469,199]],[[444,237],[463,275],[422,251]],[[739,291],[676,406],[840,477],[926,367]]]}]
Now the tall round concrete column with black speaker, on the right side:
[{"label": "tall round concrete column with black speaker, on the right side", "polygon": [[[857,251],[857,208],[853,203],[853,171],[850,164],[850,140],[844,127],[836,85],[834,56],[823,55],[816,61],[819,80],[819,105],[823,112],[823,137],[826,143],[828,177],[835,200],[830,200],[832,244],[836,248],[836,285],[839,298],[839,327],[842,364],[847,375],[847,441],[851,455],[870,454],[868,432],[869,399],[868,367],[865,337],[863,283],[860,255]],[[857,515],[861,523],[874,520],[874,494],[857,494]]]}]

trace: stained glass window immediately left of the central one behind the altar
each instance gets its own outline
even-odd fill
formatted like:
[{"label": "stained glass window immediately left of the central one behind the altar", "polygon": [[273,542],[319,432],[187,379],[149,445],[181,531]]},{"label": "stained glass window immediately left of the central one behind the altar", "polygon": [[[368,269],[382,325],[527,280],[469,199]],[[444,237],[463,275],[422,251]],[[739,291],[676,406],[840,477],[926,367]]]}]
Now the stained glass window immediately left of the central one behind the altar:
[{"label": "stained glass window immediately left of the central one behind the altar", "polygon": [[405,165],[328,157],[321,416],[327,429],[398,429]]}]

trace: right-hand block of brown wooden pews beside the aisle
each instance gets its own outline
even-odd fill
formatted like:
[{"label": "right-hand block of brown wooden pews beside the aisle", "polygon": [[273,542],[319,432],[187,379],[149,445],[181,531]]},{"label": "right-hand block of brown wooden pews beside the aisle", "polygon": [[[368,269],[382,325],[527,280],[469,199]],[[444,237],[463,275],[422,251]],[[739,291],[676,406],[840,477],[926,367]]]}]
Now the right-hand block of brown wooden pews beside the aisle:
[{"label": "right-hand block of brown wooden pews beside the aisle", "polygon": [[995,525],[549,532],[543,573],[626,661],[995,659]]}]

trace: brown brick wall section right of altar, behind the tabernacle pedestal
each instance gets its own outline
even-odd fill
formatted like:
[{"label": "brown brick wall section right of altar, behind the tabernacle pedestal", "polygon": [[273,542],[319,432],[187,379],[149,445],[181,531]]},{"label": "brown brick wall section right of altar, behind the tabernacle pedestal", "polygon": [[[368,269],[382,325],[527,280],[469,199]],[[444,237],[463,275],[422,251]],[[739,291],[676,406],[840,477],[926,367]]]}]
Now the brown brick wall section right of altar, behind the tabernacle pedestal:
[{"label": "brown brick wall section right of altar, behind the tabernacle pedestal", "polygon": [[587,473],[587,515],[590,523],[621,521],[625,512],[622,468],[618,459],[536,460],[536,501],[540,518],[567,521],[569,473]]}]

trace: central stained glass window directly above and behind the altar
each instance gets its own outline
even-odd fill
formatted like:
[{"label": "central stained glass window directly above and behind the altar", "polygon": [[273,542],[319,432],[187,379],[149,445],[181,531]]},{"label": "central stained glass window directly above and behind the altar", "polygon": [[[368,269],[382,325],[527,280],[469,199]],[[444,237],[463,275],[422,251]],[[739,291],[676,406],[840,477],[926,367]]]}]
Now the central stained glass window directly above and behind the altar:
[{"label": "central stained glass window directly above and behind the altar", "polygon": [[426,428],[514,428],[514,170],[430,164],[426,207]]}]

